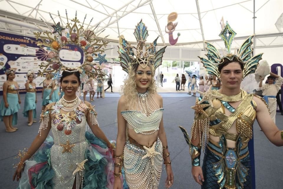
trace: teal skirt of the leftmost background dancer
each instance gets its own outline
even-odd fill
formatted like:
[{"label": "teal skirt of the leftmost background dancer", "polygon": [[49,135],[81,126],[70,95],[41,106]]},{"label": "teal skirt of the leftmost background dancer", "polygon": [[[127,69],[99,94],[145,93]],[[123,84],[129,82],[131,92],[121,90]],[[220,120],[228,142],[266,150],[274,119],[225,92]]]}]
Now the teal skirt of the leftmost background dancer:
[{"label": "teal skirt of the leftmost background dancer", "polygon": [[17,125],[18,111],[20,109],[18,94],[7,93],[8,108],[5,107],[4,100],[0,104],[0,121],[3,121],[3,116],[13,115],[12,125]]}]

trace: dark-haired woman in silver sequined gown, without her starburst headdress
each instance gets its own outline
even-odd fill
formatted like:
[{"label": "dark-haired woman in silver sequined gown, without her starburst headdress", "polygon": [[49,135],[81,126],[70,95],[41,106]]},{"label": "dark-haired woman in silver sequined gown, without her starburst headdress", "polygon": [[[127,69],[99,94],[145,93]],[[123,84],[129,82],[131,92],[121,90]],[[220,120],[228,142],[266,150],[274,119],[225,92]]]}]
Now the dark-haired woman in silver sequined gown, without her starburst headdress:
[{"label": "dark-haired woman in silver sequined gown, without her starburst headdress", "polygon": [[[76,95],[80,85],[80,74],[78,71],[65,70],[62,73],[60,83],[65,95],[58,102],[47,105],[45,111],[42,112],[39,134],[27,153],[21,158],[13,179],[17,177],[17,180],[19,180],[22,176],[18,188],[35,188],[34,180],[43,177],[38,179],[40,180],[38,183],[43,180],[44,183],[40,183],[41,185],[50,185],[50,188],[53,189],[110,189],[107,172],[111,171],[113,164],[111,143],[98,127],[94,108],[89,102],[80,100]],[[89,125],[95,136],[105,143],[85,132],[86,124]],[[50,156],[47,155],[46,162],[34,165],[33,162],[37,161],[36,159],[39,159],[37,157],[40,157],[42,153],[42,144],[47,144],[44,141],[48,139],[50,130],[54,136],[54,144],[47,152],[47,154],[50,153]],[[93,144],[92,141],[94,140],[100,141],[98,141],[98,144]],[[95,145],[98,148],[92,150],[92,148],[96,148]],[[92,156],[93,154],[94,156]],[[33,161],[27,161],[31,157]],[[106,158],[103,159],[103,157]],[[101,162],[97,161],[100,159],[102,159]],[[48,169],[48,166],[47,168],[44,167],[48,164],[51,165],[50,170],[42,170],[42,166],[44,169]],[[92,167],[93,164],[98,165],[96,170]],[[104,167],[106,167],[105,170],[103,170]],[[101,172],[98,170],[101,170]],[[32,173],[33,171],[35,173]],[[40,174],[36,175],[35,178],[32,177],[36,173]],[[40,184],[38,183],[36,184],[39,187]]]}]

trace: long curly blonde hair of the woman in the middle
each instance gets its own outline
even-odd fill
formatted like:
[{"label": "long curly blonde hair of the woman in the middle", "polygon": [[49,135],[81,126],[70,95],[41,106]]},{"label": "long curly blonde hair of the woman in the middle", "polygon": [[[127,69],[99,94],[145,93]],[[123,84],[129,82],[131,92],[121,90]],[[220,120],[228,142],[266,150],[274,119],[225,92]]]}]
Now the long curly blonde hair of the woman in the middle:
[{"label": "long curly blonde hair of the woman in the middle", "polygon": [[[151,70],[151,83],[149,84],[147,90],[149,94],[155,94],[156,93],[156,84],[154,79],[154,70],[152,68],[151,64],[147,64]],[[124,82],[124,85],[121,86],[121,89],[123,91],[123,94],[125,98],[127,99],[126,108],[129,110],[131,107],[134,107],[135,99],[136,99],[136,71],[139,67],[139,64],[136,63],[131,67],[131,70],[129,71],[128,79]]]}]

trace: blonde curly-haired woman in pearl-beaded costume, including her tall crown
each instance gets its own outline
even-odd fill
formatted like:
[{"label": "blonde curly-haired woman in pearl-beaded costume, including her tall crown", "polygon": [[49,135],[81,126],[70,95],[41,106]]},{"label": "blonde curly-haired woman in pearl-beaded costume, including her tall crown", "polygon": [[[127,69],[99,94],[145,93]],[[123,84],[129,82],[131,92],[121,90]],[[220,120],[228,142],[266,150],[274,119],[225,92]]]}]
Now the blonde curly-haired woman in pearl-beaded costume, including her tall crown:
[{"label": "blonde curly-haired woman in pearl-beaded costume, including her tall crown", "polygon": [[[122,48],[119,48],[121,66],[129,76],[122,87],[124,95],[117,108],[114,189],[121,188],[119,177],[122,166],[130,189],[157,189],[163,161],[167,173],[165,187],[170,188],[173,173],[163,126],[163,102],[153,79],[155,69],[161,65],[165,47],[155,52],[157,39],[149,47],[145,45],[147,28],[142,21],[136,26],[134,34],[138,41],[135,56],[130,50],[134,47],[125,39]],[[143,56],[140,54],[142,47],[146,49]],[[150,61],[150,55],[154,55],[153,61]]]}]

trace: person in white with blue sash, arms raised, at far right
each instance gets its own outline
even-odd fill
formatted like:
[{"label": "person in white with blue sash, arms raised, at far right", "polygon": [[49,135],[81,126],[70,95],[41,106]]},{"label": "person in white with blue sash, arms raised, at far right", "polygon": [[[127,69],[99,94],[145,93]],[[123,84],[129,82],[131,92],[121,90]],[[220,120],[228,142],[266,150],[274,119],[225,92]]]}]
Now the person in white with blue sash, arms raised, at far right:
[{"label": "person in white with blue sash, arms raised, at far right", "polygon": [[275,115],[276,115],[276,108],[277,108],[277,101],[276,95],[281,88],[283,83],[283,78],[279,75],[276,75],[270,72],[270,76],[267,77],[268,84],[262,85],[262,80],[259,82],[259,89],[262,90],[262,95],[264,100],[269,106],[270,109],[270,116],[272,120],[275,122]]}]

